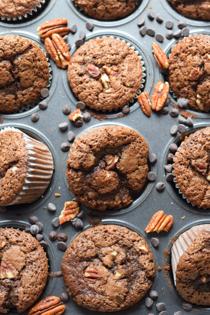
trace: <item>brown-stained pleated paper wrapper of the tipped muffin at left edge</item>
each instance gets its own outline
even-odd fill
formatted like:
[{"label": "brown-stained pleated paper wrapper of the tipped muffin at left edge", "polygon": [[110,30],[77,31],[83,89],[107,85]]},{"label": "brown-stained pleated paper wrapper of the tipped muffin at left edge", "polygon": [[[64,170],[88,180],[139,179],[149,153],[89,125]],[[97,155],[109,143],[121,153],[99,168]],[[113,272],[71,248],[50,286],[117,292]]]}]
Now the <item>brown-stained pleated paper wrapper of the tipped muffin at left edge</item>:
[{"label": "brown-stained pleated paper wrapper of the tipped muffin at left edge", "polygon": [[53,175],[53,157],[48,147],[42,142],[35,140],[19,129],[5,127],[0,130],[0,134],[5,131],[22,133],[22,140],[25,140],[25,148],[28,152],[28,167],[25,182],[17,198],[10,203],[31,203],[43,195],[47,189]]}]

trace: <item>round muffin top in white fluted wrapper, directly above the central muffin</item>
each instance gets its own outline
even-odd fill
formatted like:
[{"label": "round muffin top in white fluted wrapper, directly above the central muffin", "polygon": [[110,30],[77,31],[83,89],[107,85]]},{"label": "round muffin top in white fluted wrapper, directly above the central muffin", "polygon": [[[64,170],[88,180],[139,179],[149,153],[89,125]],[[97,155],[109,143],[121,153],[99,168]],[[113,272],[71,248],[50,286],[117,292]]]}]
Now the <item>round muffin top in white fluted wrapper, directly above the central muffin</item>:
[{"label": "round muffin top in white fluted wrapper, directly above the central muffin", "polygon": [[67,76],[79,100],[96,110],[111,111],[128,104],[139,91],[141,60],[119,39],[91,39],[71,58]]}]

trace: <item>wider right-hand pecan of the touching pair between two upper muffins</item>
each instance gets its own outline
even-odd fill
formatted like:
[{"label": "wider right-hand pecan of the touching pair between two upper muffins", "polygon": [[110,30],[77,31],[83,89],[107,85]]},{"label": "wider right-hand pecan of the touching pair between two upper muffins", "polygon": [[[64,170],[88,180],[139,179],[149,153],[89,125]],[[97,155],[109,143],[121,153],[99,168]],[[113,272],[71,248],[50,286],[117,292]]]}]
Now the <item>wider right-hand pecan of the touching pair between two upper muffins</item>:
[{"label": "wider right-hand pecan of the touching pair between two upper muffins", "polygon": [[151,97],[151,108],[160,111],[167,100],[169,92],[169,83],[162,83],[162,80],[159,80],[154,87],[154,92]]}]

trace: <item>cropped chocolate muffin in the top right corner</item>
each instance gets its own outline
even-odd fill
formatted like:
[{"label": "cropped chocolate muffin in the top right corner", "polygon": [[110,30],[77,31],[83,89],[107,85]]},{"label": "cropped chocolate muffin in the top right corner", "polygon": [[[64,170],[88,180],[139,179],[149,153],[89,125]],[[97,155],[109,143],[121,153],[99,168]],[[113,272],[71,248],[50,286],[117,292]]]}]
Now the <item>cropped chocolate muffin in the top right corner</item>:
[{"label": "cropped chocolate muffin in the top right corner", "polygon": [[194,20],[210,20],[210,1],[169,0],[175,10]]}]

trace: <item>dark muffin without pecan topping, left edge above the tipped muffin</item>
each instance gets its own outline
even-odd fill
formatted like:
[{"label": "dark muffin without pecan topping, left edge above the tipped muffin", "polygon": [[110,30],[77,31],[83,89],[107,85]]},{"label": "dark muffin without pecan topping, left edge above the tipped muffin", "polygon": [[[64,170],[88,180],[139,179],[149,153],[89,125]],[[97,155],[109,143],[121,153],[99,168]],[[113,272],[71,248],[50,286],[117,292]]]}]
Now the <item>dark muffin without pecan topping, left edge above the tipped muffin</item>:
[{"label": "dark muffin without pecan topping, left edge above the tipped muffin", "polygon": [[36,43],[18,35],[0,36],[0,111],[38,101],[48,82],[48,62]]}]

